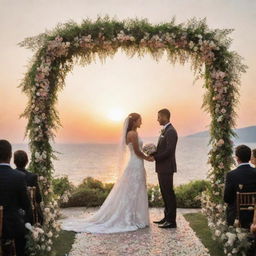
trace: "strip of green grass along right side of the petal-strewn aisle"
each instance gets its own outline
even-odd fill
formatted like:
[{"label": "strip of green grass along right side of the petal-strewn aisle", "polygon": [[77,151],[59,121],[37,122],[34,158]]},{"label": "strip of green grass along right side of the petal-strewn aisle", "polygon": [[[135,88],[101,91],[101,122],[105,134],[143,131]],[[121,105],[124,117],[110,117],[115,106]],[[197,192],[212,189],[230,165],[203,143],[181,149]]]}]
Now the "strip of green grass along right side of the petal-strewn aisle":
[{"label": "strip of green grass along right side of the petal-strewn aisle", "polygon": [[191,228],[202,241],[203,245],[209,250],[211,256],[225,256],[223,247],[212,239],[212,234],[207,225],[207,219],[201,213],[184,214]]}]

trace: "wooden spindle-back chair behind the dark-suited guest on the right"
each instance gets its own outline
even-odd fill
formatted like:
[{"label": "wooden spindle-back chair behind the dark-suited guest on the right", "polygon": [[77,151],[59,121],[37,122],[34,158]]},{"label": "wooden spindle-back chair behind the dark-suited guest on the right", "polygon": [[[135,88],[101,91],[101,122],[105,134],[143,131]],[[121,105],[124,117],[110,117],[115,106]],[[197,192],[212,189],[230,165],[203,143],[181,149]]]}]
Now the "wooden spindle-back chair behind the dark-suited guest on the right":
[{"label": "wooden spindle-back chair behind the dark-suited guest on the right", "polygon": [[240,213],[241,211],[254,211],[254,221],[256,223],[255,205],[256,205],[256,192],[237,192],[236,193],[236,204],[237,204],[237,220],[238,226],[240,224]]}]

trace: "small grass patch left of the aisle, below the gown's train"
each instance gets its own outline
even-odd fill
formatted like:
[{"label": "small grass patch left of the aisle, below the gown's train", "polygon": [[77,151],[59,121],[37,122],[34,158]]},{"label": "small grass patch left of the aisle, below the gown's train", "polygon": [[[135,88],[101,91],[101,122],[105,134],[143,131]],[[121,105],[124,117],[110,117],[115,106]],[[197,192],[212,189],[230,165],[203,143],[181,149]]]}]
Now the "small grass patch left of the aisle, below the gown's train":
[{"label": "small grass patch left of the aisle, below the gown's train", "polygon": [[53,243],[53,250],[55,251],[55,256],[65,256],[68,255],[72,248],[72,244],[75,241],[75,232],[64,231],[60,232],[60,236]]}]

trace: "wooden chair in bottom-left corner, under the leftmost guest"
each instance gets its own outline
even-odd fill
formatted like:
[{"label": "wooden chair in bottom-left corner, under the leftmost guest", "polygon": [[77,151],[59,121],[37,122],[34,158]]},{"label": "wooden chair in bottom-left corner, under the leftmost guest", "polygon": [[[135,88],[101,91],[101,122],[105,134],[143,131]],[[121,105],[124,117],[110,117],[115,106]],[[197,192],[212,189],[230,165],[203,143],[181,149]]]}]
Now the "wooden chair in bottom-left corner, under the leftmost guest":
[{"label": "wooden chair in bottom-left corner, under the leftmost guest", "polygon": [[0,256],[16,256],[14,240],[3,239],[4,208],[0,206]]}]

